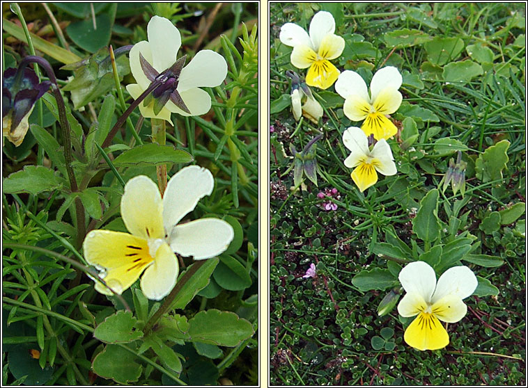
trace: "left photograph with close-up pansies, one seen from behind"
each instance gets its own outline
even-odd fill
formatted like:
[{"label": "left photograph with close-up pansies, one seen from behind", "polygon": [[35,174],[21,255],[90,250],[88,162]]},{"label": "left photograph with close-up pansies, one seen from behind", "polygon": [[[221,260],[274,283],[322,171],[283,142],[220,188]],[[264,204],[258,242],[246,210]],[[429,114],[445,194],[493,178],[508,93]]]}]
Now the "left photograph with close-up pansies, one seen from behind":
[{"label": "left photograph with close-up pansies, one seen from behind", "polygon": [[2,3],[4,385],[261,384],[258,15]]}]

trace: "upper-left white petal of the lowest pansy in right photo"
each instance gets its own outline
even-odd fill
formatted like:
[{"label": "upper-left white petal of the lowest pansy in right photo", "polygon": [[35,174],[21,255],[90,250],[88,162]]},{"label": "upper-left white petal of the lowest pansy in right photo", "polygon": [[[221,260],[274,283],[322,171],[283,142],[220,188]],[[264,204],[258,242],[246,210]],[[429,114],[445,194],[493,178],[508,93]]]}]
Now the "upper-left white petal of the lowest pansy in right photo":
[{"label": "upper-left white petal of the lowest pansy in right photo", "polygon": [[435,292],[436,275],[435,270],[425,261],[413,261],[400,271],[398,279],[407,293],[417,293],[426,302]]}]

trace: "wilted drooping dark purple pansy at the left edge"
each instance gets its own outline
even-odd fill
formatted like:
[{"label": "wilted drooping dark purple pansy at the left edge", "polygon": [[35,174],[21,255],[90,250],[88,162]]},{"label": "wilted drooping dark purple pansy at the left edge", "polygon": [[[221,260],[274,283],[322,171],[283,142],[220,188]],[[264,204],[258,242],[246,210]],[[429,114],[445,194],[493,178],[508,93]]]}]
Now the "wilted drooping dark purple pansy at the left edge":
[{"label": "wilted drooping dark purple pansy at the left edge", "polygon": [[9,67],[2,79],[2,136],[16,147],[22,144],[29,129],[29,116],[35,103],[52,83],[38,82],[37,74],[29,67]]}]

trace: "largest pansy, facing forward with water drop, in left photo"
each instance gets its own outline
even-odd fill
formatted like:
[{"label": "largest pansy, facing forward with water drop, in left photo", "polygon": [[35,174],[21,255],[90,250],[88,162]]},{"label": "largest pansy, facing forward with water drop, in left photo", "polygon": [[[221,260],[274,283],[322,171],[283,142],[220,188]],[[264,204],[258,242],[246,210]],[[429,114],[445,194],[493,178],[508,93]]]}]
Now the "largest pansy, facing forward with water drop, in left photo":
[{"label": "largest pansy, facing forward with water drop, in left photo", "polygon": [[[190,165],[177,172],[162,196],[152,179],[139,175],[125,185],[121,217],[130,234],[92,230],[83,243],[88,264],[114,292],[121,294],[139,278],[141,290],[149,299],[164,298],[176,285],[177,254],[195,260],[224,252],[233,240],[233,227],[218,218],[201,218],[178,225],[205,195],[212,193],[211,172]],[[111,295],[101,282],[95,289]]]}]

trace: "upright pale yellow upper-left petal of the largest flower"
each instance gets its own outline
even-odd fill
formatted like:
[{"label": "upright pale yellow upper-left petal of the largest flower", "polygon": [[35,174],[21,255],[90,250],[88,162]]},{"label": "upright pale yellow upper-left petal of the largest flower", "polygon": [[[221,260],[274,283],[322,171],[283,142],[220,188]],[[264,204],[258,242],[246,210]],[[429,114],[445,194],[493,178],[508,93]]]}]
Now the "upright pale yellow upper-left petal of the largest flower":
[{"label": "upright pale yellow upper-left petal of the largest flower", "polygon": [[128,231],[143,239],[163,239],[163,204],[157,185],[145,175],[127,181],[121,217]]}]

